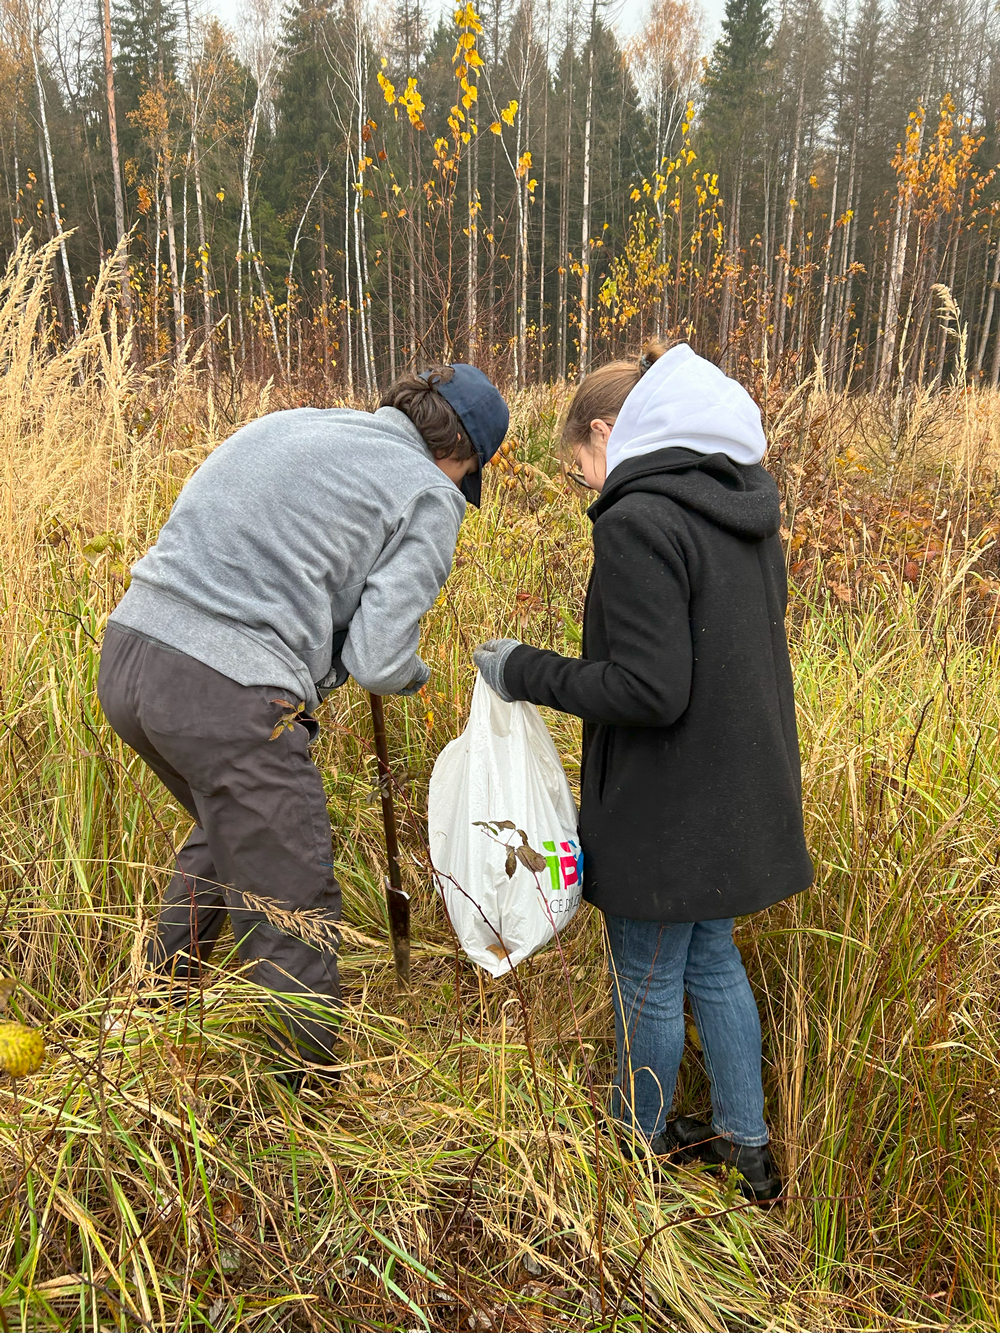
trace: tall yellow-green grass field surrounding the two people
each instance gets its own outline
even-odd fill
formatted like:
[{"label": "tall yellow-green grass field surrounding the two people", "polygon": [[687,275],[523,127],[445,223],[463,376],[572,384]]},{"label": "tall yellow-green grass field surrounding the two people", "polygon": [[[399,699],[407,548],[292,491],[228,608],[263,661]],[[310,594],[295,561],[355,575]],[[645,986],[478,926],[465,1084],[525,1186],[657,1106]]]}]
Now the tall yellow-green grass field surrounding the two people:
[{"label": "tall yellow-green grass field surrounding the two people", "polygon": [[[427,619],[424,696],[388,705],[413,894],[392,981],[367,702],[323,710],[345,892],[347,1072],[263,1074],[263,996],[223,948],[187,1010],[137,1002],[185,818],[104,724],[97,648],[184,477],[261,411],[136,379],[92,323],[47,349],[51,256],[0,291],[0,972],[49,1044],[0,1082],[0,1328],[1000,1328],[1000,400],[768,393],[785,496],[812,892],[740,928],[787,1206],[663,1178],[595,1129],[613,1040],[600,920],[492,981],[456,952],[421,812],[471,649],[567,652],[588,575],[563,397],[515,404]],[[549,725],[573,773],[572,720]],[[680,1097],[707,1105],[689,1049]]]}]

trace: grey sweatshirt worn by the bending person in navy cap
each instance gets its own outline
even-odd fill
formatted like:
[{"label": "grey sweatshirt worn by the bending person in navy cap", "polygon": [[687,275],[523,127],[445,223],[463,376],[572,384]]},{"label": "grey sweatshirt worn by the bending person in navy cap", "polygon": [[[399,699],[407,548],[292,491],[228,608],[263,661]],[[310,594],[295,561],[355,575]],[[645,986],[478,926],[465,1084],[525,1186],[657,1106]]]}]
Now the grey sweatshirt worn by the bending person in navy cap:
[{"label": "grey sweatshirt worn by the bending person in navy cap", "polygon": [[[296,408],[243,427],[195,472],[111,620],[307,708],[420,673],[420,617],[465,499],[396,408]],[[343,637],[343,636],[341,636]]]}]

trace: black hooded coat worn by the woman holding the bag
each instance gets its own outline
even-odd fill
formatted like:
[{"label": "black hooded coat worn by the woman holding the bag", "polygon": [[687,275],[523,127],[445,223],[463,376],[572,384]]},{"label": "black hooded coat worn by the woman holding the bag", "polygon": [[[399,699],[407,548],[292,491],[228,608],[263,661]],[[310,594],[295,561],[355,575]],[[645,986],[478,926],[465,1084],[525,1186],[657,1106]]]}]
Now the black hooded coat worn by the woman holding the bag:
[{"label": "black hooded coat worn by the woman holding the bag", "polygon": [[523,645],[515,698],[583,717],[584,897],[612,916],[759,912],[812,882],[777,488],[660,449],[591,507],[583,657]]}]

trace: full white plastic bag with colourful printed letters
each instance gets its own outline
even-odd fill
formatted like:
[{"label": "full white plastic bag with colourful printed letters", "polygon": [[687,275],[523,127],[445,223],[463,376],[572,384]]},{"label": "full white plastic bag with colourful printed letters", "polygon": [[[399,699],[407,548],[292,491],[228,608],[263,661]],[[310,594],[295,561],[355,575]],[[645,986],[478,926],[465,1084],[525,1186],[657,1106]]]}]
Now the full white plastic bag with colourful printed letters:
[{"label": "full white plastic bag with colourful printed letters", "polygon": [[533,704],[505,704],[476,678],[468,725],[437,756],[427,813],[435,882],[473,962],[503,976],[573,918],[576,804]]}]

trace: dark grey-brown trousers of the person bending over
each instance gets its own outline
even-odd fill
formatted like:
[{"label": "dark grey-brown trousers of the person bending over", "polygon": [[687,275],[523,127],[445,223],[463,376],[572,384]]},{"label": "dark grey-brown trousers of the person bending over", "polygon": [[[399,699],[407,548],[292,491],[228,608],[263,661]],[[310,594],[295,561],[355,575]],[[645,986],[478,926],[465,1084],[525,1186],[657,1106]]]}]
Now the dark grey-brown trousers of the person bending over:
[{"label": "dark grey-brown trousers of the person bending over", "polygon": [[[240,958],[276,993],[303,1058],[329,1064],[340,885],[323,778],[309,758],[317,724],[284,688],[237,685],[113,624],[97,694],[123,741],[196,820],[177,853],[151,965],[196,978],[228,910]],[[269,918],[255,897],[267,900]],[[303,912],[300,925],[289,922],[296,933],[281,929],[281,913]],[[292,994],[309,996],[308,1006],[283,1005]]]}]

